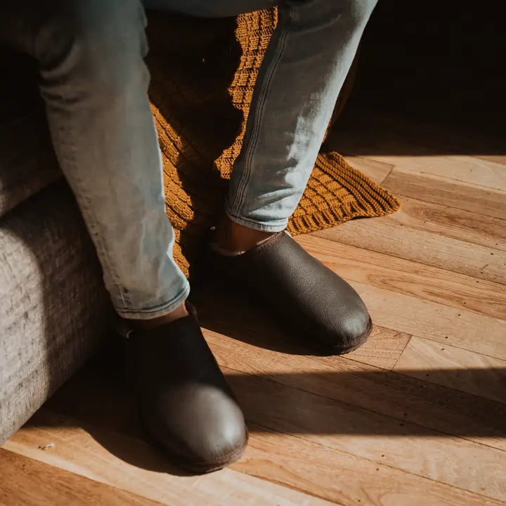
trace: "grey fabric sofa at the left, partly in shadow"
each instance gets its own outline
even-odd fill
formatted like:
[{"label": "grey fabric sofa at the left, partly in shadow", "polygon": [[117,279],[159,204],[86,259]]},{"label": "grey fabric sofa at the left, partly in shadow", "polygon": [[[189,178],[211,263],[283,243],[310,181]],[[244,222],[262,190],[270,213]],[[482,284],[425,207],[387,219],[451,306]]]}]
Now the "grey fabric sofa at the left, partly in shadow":
[{"label": "grey fabric sofa at the left, partly in shadow", "polygon": [[3,443],[103,342],[112,311],[51,149],[34,65],[6,50],[0,62]]}]

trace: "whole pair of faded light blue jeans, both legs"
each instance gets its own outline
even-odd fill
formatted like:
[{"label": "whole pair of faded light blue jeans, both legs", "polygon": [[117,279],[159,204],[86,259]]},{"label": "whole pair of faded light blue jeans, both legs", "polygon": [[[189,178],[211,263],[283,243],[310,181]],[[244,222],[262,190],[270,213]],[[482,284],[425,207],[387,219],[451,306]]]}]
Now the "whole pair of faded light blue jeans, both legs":
[{"label": "whole pair of faded light blue jeans, both legs", "polygon": [[190,290],[172,259],[144,8],[213,18],[279,6],[225,210],[242,225],[282,231],[376,1],[4,0],[0,39],[39,62],[54,148],[120,316],[162,316]]}]

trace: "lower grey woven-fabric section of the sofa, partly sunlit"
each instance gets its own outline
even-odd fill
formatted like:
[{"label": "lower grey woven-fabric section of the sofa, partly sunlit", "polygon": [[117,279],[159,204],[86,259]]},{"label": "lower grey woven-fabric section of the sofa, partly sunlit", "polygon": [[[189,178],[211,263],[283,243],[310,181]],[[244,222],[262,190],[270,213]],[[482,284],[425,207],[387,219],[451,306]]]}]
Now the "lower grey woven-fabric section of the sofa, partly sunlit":
[{"label": "lower grey woven-fabric section of the sofa, partly sunlit", "polygon": [[0,219],[0,443],[96,349],[109,311],[64,183]]}]

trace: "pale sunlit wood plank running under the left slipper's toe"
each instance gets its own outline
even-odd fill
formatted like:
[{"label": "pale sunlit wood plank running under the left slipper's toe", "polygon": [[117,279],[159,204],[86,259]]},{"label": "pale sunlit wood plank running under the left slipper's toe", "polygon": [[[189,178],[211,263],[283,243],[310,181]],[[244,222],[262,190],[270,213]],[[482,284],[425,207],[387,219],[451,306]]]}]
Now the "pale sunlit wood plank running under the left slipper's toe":
[{"label": "pale sunlit wood plank running under the left slipper's toe", "polygon": [[[111,403],[110,398],[108,403]],[[4,444],[4,448],[164,505],[330,504],[232,469],[205,476],[178,476],[178,470],[145,441],[86,427],[91,431],[90,435],[79,428],[77,420],[68,420],[44,412],[44,409],[35,415],[32,424],[39,427],[32,425],[21,429]],[[41,450],[41,441],[52,441],[54,447],[51,451]],[[97,501],[96,504],[102,503]]]}]

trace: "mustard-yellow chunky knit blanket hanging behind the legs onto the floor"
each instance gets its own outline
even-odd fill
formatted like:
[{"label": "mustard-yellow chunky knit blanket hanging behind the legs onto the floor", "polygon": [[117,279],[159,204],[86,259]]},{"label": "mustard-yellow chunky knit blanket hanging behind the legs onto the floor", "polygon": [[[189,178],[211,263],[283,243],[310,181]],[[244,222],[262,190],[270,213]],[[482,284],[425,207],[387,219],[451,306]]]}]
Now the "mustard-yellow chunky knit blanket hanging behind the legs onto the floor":
[{"label": "mustard-yellow chunky knit blanket hanging behind the legs onto the floor", "polygon": [[[150,19],[150,100],[167,215],[176,231],[174,259],[186,275],[223,212],[254,84],[276,23],[275,8],[224,20],[160,13]],[[308,233],[399,207],[395,197],[340,155],[320,153],[287,230]]]}]

